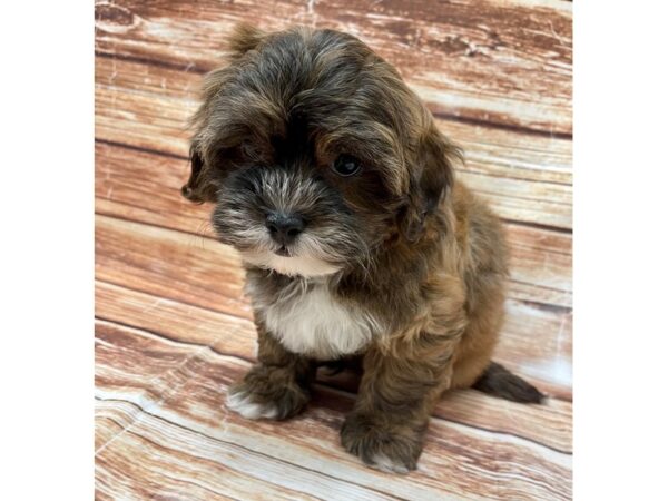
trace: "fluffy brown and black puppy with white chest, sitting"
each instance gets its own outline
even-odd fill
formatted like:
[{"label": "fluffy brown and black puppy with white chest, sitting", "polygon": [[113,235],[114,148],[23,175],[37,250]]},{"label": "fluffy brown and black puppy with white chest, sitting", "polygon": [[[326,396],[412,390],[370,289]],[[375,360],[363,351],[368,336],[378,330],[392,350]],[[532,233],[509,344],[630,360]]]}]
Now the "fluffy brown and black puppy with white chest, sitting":
[{"label": "fluffy brown and black puppy with white chest, sitting", "polygon": [[361,357],[342,444],[407,472],[444,391],[540,402],[490,362],[503,320],[501,224],[454,179],[460,150],[366,45],[240,26],[193,125],[183,194],[216,204],[213,226],[240,253],[257,326],[258,362],[230,389],[230,410],[291,418],[318,365]]}]

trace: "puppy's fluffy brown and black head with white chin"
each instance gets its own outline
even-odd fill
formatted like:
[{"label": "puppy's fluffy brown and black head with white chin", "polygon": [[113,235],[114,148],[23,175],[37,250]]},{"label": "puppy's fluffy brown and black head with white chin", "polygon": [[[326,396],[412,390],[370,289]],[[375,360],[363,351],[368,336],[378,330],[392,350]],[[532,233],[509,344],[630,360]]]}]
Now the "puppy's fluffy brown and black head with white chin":
[{"label": "puppy's fluffy brown and black head with white chin", "polygon": [[397,72],[354,37],[240,27],[209,73],[184,195],[215,202],[222,242],[254,265],[318,276],[415,239],[454,148]]}]

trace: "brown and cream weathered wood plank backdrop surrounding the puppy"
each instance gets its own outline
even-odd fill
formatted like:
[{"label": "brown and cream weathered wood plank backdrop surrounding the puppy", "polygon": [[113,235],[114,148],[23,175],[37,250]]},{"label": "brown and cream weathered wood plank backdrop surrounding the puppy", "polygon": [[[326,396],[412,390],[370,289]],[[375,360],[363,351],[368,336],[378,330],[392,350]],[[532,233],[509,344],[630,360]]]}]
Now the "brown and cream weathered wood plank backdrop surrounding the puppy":
[{"label": "brown and cream weathered wood plank backdrop surrounding the puppy", "polygon": [[[227,412],[227,386],[253,363],[252,313],[237,256],[179,188],[199,81],[240,20],[361,37],[464,147],[459,177],[512,246],[495,357],[547,404],[450,394],[406,477],[338,445],[345,375],[320,377],[286,423]],[[564,0],[96,2],[97,498],[570,499],[571,40]]]}]

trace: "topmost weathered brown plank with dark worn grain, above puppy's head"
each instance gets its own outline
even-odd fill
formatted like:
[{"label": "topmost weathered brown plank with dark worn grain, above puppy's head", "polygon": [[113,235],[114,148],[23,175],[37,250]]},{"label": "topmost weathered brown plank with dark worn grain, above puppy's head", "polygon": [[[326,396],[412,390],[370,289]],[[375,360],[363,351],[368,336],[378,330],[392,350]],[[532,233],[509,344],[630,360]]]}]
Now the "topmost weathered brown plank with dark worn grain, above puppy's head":
[{"label": "topmost weathered brown plank with dark worn grain, above puppy's head", "polygon": [[202,72],[238,21],[334,28],[394,63],[438,114],[570,134],[571,10],[559,0],[99,1],[96,51]]}]

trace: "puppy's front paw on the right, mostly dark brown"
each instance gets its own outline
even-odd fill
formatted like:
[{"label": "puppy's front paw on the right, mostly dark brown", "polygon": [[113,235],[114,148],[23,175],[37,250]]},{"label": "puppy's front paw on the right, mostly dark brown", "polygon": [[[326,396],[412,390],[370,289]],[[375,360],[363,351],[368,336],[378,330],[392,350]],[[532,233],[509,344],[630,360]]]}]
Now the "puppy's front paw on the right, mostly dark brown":
[{"label": "puppy's front paw on the right, mostly dark brown", "polygon": [[343,448],[377,470],[394,473],[415,470],[426,426],[380,421],[354,412],[350,414],[341,429]]}]

